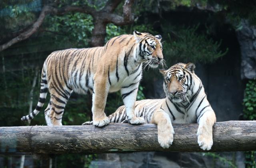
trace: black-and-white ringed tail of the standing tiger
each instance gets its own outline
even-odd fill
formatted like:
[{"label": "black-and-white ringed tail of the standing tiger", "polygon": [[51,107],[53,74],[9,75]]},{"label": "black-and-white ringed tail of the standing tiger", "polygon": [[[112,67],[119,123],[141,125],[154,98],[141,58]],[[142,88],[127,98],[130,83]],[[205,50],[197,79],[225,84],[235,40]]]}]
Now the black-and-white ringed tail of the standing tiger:
[{"label": "black-and-white ringed tail of the standing tiger", "polygon": [[47,79],[46,79],[46,62],[44,63],[44,67],[42,69],[42,74],[41,74],[41,83],[40,83],[40,96],[39,96],[39,101],[36,105],[36,109],[32,111],[30,114],[23,116],[21,118],[22,121],[31,121],[42,109],[44,102],[46,100],[46,95],[47,95]]}]

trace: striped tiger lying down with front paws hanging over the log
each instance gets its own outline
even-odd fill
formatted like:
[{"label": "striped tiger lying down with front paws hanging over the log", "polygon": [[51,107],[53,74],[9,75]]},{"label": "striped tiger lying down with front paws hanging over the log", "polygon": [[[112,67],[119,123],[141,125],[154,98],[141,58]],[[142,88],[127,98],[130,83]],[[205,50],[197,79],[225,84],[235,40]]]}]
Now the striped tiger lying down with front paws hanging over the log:
[{"label": "striped tiger lying down with front paws hanging over the log", "polygon": [[[166,98],[136,101],[136,116],[143,117],[146,123],[157,125],[158,142],[163,148],[169,148],[173,142],[172,123],[199,123],[197,135],[200,148],[210,150],[212,147],[212,126],[216,116],[194,68],[193,63],[177,63],[166,71],[160,70],[164,75]],[[119,107],[108,117],[112,123],[127,121],[125,107]]]}]

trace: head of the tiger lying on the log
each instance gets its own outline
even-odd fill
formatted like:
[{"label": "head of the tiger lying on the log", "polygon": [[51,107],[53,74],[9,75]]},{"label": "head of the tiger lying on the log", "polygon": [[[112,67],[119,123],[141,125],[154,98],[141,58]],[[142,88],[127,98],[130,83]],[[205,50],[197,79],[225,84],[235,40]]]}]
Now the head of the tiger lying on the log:
[{"label": "head of the tiger lying on the log", "polygon": [[164,75],[164,92],[172,102],[189,102],[195,67],[194,63],[177,63],[168,70],[160,70]]}]

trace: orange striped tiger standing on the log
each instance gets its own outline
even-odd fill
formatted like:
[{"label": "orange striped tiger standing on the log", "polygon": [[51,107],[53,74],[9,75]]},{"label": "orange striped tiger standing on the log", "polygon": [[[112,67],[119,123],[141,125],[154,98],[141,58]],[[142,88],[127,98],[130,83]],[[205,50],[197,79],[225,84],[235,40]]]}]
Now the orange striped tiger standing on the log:
[{"label": "orange striped tiger standing on the log", "polygon": [[104,113],[108,92],[121,90],[127,119],[131,124],[142,124],[144,119],[134,114],[142,63],[156,68],[163,61],[161,36],[136,30],[133,35],[110,39],[103,47],[54,51],[44,61],[36,109],[21,120],[31,120],[40,112],[48,89],[47,125],[62,125],[65,105],[74,91],[92,93],[93,125],[105,126],[110,122]]}]

